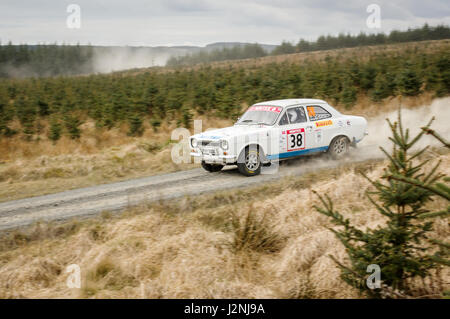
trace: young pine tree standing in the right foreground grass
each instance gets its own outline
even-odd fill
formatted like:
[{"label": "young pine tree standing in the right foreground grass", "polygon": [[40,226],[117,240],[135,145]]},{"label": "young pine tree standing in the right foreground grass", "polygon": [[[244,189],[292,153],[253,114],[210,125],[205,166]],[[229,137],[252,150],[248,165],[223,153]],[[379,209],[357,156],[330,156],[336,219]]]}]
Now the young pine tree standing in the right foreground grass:
[{"label": "young pine tree standing in the right foreground grass", "polygon": [[[407,296],[411,293],[411,279],[425,278],[431,270],[442,267],[442,263],[438,262],[442,259],[442,252],[433,254],[432,250],[427,250],[436,243],[428,240],[428,233],[433,227],[433,222],[428,219],[432,213],[424,208],[435,196],[429,188],[444,177],[437,172],[440,163],[430,172],[425,172],[423,166],[427,161],[419,161],[418,158],[428,147],[412,150],[425,131],[411,139],[409,130],[405,131],[402,127],[400,112],[398,122],[388,122],[394,146],[391,154],[383,148],[382,151],[389,160],[389,166],[376,181],[363,174],[375,188],[375,191],[368,192],[367,197],[378,213],[387,217],[386,225],[367,230],[356,228],[349,219],[334,210],[327,195],[325,198],[319,196],[323,207],[315,206],[336,225],[343,226],[343,229],[330,229],[343,243],[350,259],[350,266],[346,266],[331,256],[341,268],[342,279],[371,297]],[[430,124],[431,121],[425,128],[428,129]],[[411,152],[413,154],[410,155]],[[392,176],[417,181],[421,186]],[[448,216],[449,211],[439,212],[439,215]],[[370,264],[381,268],[381,288],[372,290],[365,284],[366,270]]]}]

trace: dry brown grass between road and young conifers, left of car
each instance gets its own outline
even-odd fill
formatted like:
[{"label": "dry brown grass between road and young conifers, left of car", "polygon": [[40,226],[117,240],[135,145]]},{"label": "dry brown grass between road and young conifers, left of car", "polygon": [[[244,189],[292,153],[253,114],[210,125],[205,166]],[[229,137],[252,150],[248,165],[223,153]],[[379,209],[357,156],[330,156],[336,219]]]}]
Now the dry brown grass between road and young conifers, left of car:
[{"label": "dry brown grass between road and young conifers, left of car", "polygon": [[[201,116],[196,119],[202,119],[203,130],[231,124]],[[2,138],[0,201],[196,167],[171,160],[170,133],[175,128],[174,123],[164,123],[158,132],[147,127],[143,136],[130,137],[125,125],[108,131],[88,121],[80,140],[63,137],[53,143],[43,123],[35,141]]]}]

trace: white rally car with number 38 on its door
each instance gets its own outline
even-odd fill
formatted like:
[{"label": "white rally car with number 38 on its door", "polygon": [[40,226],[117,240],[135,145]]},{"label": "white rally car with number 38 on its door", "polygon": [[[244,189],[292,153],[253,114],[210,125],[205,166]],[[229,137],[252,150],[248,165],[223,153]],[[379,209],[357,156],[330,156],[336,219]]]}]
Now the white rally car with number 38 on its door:
[{"label": "white rally car with number 38 on its door", "polygon": [[322,100],[287,99],[254,104],[233,126],[193,135],[189,143],[205,170],[237,165],[252,176],[262,165],[315,152],[339,158],[365,135],[363,117],[341,114]]}]

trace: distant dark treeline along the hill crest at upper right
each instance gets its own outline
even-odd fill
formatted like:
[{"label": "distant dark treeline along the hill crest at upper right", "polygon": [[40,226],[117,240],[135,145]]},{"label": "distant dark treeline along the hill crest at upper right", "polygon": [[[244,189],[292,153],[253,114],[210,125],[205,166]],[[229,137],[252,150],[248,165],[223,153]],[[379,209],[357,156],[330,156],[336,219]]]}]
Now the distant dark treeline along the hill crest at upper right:
[{"label": "distant dark treeline along the hill crest at upper right", "polygon": [[[357,46],[393,44],[403,42],[415,42],[425,40],[450,39],[450,28],[439,25],[430,27],[425,24],[421,28],[408,29],[406,31],[391,31],[389,35],[384,33],[365,34],[352,36],[339,34],[338,36],[320,36],[317,41],[301,39],[296,45],[283,41],[270,55],[291,54],[299,52],[311,52],[341,48],[354,48]],[[247,45],[245,47],[223,48],[212,52],[197,52],[181,57],[172,57],[167,61],[167,66],[194,65],[213,61],[236,60],[258,58],[269,55],[259,45]]]}]

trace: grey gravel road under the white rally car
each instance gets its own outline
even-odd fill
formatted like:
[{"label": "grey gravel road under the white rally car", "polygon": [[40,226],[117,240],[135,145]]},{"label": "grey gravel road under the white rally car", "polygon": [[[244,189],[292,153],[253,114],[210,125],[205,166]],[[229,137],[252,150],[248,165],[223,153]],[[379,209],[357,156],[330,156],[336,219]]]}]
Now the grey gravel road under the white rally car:
[{"label": "grey gravel road under the white rally car", "polygon": [[279,166],[278,170],[277,166],[264,167],[263,173],[254,177],[240,175],[235,166],[226,167],[217,173],[197,168],[4,202],[0,203],[0,231],[26,226],[39,220],[65,220],[89,217],[102,211],[118,211],[143,201],[247,187],[289,175],[301,175],[311,169],[337,165],[337,162],[324,160],[322,156],[292,162],[293,164]]}]

